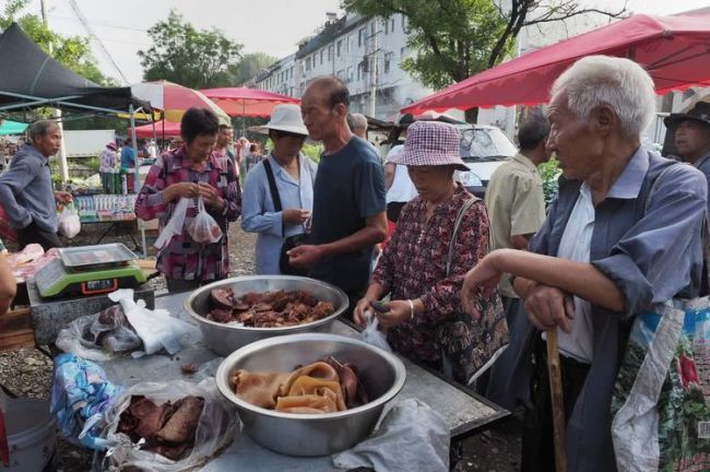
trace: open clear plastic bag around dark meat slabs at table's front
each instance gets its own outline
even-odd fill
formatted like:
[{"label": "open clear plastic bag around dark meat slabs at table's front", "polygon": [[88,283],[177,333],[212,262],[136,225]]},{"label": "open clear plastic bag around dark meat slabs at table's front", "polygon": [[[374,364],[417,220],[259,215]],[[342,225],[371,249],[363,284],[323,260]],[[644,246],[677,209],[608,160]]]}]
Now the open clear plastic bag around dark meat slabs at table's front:
[{"label": "open clear plastic bag around dark meat slabs at table's front", "polygon": [[[188,396],[204,399],[204,406],[194,432],[192,449],[179,460],[170,460],[155,452],[140,450],[123,433],[118,433],[121,413],[129,406],[131,397],[143,396],[155,404],[176,402]],[[178,472],[204,465],[212,457],[228,446],[239,426],[233,404],[220,394],[214,378],[191,384],[184,380],[171,382],[143,382],[130,387],[111,402],[105,412],[104,428],[106,453],[94,456],[94,469],[105,471],[150,470],[153,472]]]}]

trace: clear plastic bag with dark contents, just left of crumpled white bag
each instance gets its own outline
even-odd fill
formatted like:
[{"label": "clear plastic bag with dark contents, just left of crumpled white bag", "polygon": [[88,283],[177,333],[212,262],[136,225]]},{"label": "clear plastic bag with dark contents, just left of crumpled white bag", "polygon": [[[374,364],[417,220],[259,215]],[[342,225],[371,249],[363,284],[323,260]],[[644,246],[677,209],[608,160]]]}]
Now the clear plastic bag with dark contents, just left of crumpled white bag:
[{"label": "clear plastic bag with dark contents, just left of crumpled white bag", "polygon": [[66,353],[98,362],[143,347],[141,339],[118,305],[76,318],[59,332],[56,344]]}]

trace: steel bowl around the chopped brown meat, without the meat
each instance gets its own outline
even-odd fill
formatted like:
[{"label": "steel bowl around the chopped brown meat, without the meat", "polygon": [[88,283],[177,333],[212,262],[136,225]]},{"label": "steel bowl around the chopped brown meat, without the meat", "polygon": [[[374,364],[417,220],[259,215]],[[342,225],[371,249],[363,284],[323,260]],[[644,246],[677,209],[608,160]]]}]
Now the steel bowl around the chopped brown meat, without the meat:
[{"label": "steel bowl around the chopped brown meat, without the meat", "polygon": [[[249,328],[210,321],[205,318],[210,312],[210,293],[213,288],[224,287],[232,288],[235,296],[241,296],[248,292],[303,290],[319,300],[332,303],[335,311],[318,321],[286,328]],[[198,288],[185,302],[185,309],[200,326],[205,344],[215,353],[226,356],[241,346],[265,338],[299,332],[330,331],[331,324],[347,309],[347,295],[326,282],[292,275],[247,275],[226,279]]]}]

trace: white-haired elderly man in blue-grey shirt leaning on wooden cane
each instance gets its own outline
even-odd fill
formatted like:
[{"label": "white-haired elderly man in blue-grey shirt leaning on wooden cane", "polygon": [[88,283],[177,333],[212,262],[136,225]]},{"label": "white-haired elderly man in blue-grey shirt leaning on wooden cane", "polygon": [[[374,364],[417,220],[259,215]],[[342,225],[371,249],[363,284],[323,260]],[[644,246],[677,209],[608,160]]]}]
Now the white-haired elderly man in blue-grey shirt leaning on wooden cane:
[{"label": "white-haired elderly man in blue-grey shirt leaning on wooden cane", "polygon": [[707,182],[640,145],[653,111],[653,82],[630,60],[587,57],[563,73],[547,141],[563,169],[559,197],[530,252],[493,251],[465,276],[474,317],[475,295],[504,272],[524,300],[525,341],[509,386],[532,406],[523,471],[555,470],[544,332],[559,328],[567,470],[614,471],[611,400],[634,317],[701,290]]}]

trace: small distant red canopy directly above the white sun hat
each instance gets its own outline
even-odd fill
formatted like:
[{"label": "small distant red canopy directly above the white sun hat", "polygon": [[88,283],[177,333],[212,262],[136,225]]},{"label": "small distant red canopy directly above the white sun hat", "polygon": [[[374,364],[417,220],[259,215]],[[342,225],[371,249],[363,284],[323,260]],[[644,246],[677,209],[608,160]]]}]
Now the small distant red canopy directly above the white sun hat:
[{"label": "small distant red canopy directly above the white sun hat", "polygon": [[200,92],[233,117],[268,117],[279,104],[300,103],[287,95],[248,87],[204,88]]}]

